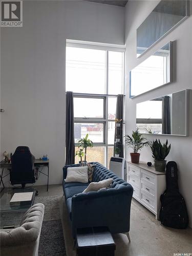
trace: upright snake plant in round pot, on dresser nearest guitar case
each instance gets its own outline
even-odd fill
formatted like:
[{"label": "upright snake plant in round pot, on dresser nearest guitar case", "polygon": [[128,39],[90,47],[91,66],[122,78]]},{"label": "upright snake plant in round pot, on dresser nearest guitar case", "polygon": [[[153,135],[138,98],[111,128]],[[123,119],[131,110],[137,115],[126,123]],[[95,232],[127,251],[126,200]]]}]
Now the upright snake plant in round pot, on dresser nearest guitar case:
[{"label": "upright snake plant in round pot, on dresser nearest guitar case", "polygon": [[161,144],[160,140],[157,139],[153,141],[151,145],[152,156],[154,158],[154,167],[157,172],[164,172],[166,167],[165,157],[168,155],[170,151],[170,144],[168,145],[168,141],[166,140],[165,144]]}]

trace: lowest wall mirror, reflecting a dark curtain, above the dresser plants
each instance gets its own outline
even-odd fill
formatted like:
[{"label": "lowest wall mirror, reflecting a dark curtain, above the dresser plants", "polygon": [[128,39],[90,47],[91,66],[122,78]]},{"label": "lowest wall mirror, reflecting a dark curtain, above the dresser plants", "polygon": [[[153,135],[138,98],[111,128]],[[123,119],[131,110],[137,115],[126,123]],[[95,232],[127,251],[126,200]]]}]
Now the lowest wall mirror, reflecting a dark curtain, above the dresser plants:
[{"label": "lowest wall mirror, reflecting a dark curtain, above the dresser plants", "polygon": [[136,126],[139,132],[187,136],[188,91],[138,103]]}]

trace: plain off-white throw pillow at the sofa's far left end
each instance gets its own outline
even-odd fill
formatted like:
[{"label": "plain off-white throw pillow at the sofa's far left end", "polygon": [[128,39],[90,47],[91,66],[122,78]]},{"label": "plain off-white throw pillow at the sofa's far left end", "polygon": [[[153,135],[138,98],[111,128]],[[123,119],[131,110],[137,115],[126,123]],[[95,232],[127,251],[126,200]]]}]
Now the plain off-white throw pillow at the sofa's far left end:
[{"label": "plain off-white throw pillow at the sofa's far left end", "polygon": [[88,183],[88,166],[68,167],[65,182]]}]

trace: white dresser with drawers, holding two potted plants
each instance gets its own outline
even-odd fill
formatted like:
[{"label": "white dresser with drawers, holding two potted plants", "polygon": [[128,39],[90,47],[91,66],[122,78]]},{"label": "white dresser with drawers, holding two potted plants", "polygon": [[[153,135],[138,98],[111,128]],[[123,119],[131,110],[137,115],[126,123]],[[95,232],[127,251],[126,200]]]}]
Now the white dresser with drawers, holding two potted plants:
[{"label": "white dresser with drawers, holding two potted plants", "polygon": [[156,172],[146,162],[127,162],[127,182],[133,186],[133,197],[159,219],[160,196],[166,188],[165,172]]}]

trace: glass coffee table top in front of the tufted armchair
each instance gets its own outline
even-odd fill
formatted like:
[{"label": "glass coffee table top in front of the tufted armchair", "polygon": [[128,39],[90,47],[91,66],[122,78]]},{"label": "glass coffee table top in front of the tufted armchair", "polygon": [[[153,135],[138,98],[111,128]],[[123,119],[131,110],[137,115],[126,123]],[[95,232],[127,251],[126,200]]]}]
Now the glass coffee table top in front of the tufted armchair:
[{"label": "glass coffee table top in front of the tufted armchair", "polygon": [[[11,198],[15,193],[28,193],[31,192],[32,198],[29,201],[18,201],[18,202],[10,202]],[[3,212],[11,212],[11,211],[26,211],[28,210],[33,204],[35,199],[36,189],[35,188],[11,188],[8,189],[6,193],[1,197],[0,204],[1,213]]]}]

